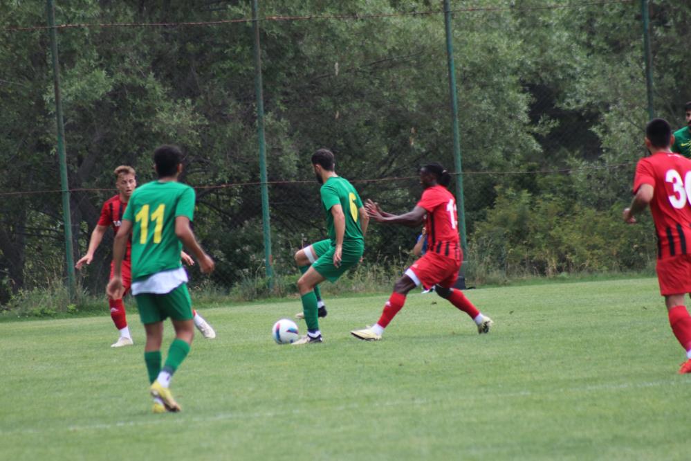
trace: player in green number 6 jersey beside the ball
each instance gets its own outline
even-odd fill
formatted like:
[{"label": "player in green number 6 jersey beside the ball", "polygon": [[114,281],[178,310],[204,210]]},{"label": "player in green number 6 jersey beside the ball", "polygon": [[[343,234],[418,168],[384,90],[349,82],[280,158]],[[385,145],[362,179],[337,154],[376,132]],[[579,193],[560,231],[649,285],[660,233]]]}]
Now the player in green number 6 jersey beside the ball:
[{"label": "player in green number 6 jersey beside the ball", "polygon": [[360,262],[365,251],[365,233],[369,222],[358,191],[347,179],[335,173],[331,151],[317,150],[312,156],[312,168],[317,182],[322,184],[320,195],[331,245],[297,280],[307,334],[295,341],[294,345],[322,342],[314,287],[324,280],[335,282]]}]

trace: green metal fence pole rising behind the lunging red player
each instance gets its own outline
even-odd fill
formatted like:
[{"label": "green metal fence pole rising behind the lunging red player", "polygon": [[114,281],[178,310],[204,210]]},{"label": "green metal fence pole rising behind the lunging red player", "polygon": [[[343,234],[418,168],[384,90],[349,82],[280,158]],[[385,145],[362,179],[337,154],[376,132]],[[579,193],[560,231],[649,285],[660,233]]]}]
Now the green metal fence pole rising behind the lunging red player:
[{"label": "green metal fence pole rising behind the lunging red player", "polygon": [[451,93],[451,115],[454,129],[454,166],[456,168],[456,204],[459,215],[459,231],[463,252],[468,250],[466,240],[466,206],[463,200],[463,174],[461,169],[461,135],[459,133],[459,104],[456,96],[456,68],[454,67],[454,44],[451,30],[451,7],[449,0],[444,0],[444,23],[446,27],[446,55],[449,63],[449,91]]}]

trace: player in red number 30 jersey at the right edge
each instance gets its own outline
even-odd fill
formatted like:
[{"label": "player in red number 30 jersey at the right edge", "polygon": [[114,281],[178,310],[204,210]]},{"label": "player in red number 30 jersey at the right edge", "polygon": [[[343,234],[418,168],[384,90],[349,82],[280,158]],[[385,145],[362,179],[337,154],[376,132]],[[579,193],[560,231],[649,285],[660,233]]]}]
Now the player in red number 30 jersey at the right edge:
[{"label": "player in red number 30 jersey at the right edge", "polygon": [[638,161],[631,206],[624,221],[634,224],[634,215],[650,206],[657,234],[657,280],[674,336],[686,351],[679,373],[691,372],[691,316],[684,296],[691,293],[691,160],[674,154],[672,128],[656,118],[645,127],[649,157]]}]

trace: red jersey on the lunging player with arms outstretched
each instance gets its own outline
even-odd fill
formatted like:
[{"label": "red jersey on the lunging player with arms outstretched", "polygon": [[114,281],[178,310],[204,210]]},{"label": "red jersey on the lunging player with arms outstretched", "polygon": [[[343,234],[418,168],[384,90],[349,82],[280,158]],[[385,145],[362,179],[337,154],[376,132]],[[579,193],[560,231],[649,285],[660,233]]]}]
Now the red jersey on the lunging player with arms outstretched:
[{"label": "red jersey on the lunging player with arms outstretched", "polygon": [[427,210],[427,251],[461,260],[456,199],[444,186],[425,189],[417,206]]}]

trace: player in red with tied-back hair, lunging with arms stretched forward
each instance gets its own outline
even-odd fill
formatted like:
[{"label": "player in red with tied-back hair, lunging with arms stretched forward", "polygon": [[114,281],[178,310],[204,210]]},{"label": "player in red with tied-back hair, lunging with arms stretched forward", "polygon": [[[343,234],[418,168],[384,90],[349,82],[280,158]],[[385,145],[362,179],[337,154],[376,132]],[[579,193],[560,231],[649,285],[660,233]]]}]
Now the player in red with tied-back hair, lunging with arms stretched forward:
[{"label": "player in red with tied-back hair, lunging with arms stretched forward", "polygon": [[461,269],[463,251],[459,242],[456,200],[447,189],[450,181],[451,175],[439,163],[424,165],[420,169],[420,182],[425,191],[415,208],[405,215],[385,213],[378,204],[367,200],[367,213],[380,223],[418,227],[426,217],[427,252],[398,279],[378,322],[351,332],[356,338],[365,341],[381,339],[384,329],[403,308],[407,293],[419,284],[425,289],[435,287],[439,296],[466,312],[475,320],[478,333],[490,331],[492,319],[481,314],[461,290],[452,288]]}]

